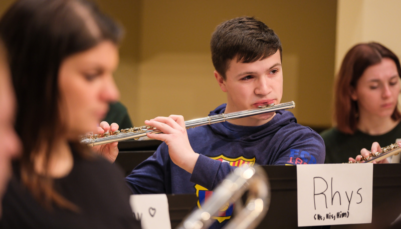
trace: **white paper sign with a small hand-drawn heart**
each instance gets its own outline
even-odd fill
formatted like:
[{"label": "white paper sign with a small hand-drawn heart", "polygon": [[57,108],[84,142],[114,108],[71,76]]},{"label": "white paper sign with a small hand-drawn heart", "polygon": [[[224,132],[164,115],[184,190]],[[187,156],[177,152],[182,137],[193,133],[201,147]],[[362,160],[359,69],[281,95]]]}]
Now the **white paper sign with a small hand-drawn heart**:
[{"label": "white paper sign with a small hand-drawn heart", "polygon": [[166,194],[133,194],[129,202],[134,216],[141,220],[143,229],[171,229]]}]

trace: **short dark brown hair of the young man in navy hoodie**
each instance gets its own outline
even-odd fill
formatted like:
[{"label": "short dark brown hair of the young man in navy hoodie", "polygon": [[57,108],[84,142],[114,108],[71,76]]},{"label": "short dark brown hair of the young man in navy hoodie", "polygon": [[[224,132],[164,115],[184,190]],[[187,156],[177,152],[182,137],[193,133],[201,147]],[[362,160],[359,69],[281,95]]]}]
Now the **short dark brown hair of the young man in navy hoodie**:
[{"label": "short dark brown hair of the young man in navy hoodie", "polygon": [[234,58],[249,63],[264,59],[277,50],[282,54],[280,38],[265,23],[254,17],[242,16],[227,20],[216,27],[210,42],[215,69],[226,78],[228,62]]}]

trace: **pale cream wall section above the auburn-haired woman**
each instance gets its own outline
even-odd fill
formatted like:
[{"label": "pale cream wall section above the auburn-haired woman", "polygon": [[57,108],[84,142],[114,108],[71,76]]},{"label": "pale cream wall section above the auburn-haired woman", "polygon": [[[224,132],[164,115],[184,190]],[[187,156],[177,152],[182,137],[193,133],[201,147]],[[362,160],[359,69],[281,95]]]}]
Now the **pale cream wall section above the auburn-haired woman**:
[{"label": "pale cream wall section above the auburn-haired woman", "polygon": [[401,1],[338,0],[335,69],[345,53],[359,42],[376,41],[401,56]]}]

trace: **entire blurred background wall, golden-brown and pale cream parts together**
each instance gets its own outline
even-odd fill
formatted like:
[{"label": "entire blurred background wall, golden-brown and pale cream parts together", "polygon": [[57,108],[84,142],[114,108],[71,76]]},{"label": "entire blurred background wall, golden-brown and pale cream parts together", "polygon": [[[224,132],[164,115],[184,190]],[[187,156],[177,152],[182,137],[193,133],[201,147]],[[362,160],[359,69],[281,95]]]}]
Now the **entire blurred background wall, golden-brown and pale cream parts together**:
[{"label": "entire blurred background wall, golden-brown and pale cream parts together", "polygon": [[[14,0],[0,0],[0,15]],[[282,102],[303,125],[331,126],[332,88],[345,52],[377,41],[401,54],[398,0],[96,0],[125,28],[115,72],[135,126],[181,114],[205,117],[226,101],[213,71],[210,37],[224,20],[248,15],[283,43]]]}]

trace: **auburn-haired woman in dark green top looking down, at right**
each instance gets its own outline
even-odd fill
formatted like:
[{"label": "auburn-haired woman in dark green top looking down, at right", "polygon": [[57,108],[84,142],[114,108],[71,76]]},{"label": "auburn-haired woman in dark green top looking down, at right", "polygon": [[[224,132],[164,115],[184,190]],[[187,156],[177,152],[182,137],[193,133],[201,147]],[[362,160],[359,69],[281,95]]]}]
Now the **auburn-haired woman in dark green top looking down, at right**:
[{"label": "auburn-haired woman in dark green top looking down, at right", "polygon": [[401,137],[400,75],[398,57],[382,44],[360,43],[347,52],[334,90],[335,126],[321,133],[325,163],[347,162],[361,148],[374,153]]}]

